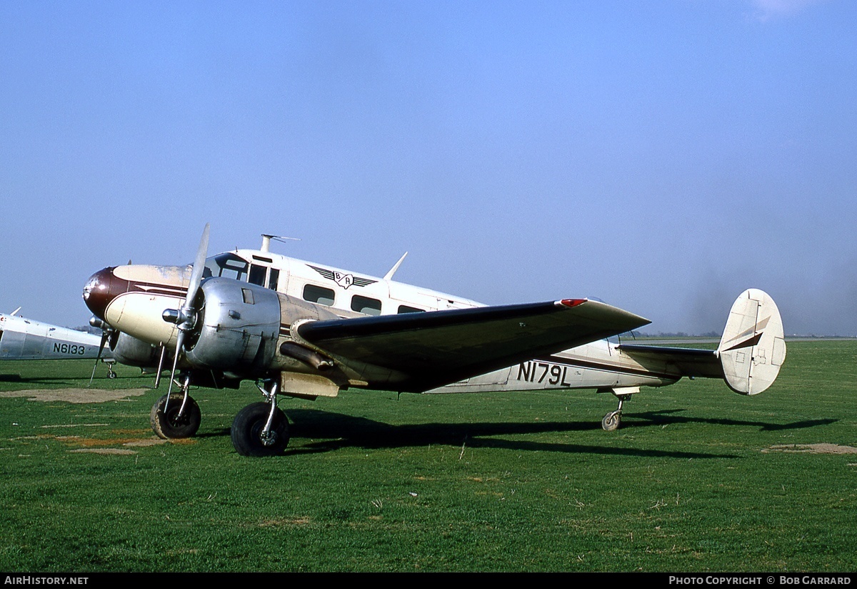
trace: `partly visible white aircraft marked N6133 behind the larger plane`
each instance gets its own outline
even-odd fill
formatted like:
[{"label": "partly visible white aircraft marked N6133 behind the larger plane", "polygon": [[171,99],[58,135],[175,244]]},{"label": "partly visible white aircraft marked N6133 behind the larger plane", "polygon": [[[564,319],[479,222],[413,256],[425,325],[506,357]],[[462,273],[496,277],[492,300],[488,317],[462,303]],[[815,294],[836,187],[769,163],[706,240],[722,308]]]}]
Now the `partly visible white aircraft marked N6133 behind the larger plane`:
[{"label": "partly visible white aircraft marked N6133 behind the larger plane", "polygon": [[[21,307],[9,315],[0,313],[0,360],[104,360],[107,376],[116,378],[110,349],[105,340],[110,334],[99,337],[83,331],[59,328],[16,315]],[[94,374],[94,369],[93,369]]]}]

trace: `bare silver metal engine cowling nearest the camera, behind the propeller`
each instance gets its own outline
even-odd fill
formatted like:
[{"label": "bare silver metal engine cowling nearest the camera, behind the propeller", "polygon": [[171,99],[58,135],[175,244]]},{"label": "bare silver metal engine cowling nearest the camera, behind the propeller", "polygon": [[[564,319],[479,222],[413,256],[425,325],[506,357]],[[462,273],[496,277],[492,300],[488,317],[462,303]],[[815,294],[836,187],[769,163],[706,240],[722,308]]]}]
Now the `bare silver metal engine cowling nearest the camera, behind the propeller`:
[{"label": "bare silver metal engine cowling nearest the camera, behind the propeller", "polygon": [[185,357],[197,368],[261,376],[272,364],[279,338],[275,291],[233,279],[201,285],[200,316]]}]

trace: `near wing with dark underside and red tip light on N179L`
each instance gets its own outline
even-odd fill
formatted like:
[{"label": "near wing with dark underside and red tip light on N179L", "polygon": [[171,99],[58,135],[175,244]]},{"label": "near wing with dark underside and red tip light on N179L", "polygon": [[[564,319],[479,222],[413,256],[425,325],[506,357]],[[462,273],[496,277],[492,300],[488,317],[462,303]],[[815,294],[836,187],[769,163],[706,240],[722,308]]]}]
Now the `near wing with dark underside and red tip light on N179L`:
[{"label": "near wing with dark underside and red tip light on N179L", "polygon": [[340,363],[387,370],[399,390],[419,392],[648,323],[598,301],[566,299],[306,322],[297,334]]}]

